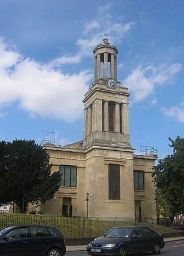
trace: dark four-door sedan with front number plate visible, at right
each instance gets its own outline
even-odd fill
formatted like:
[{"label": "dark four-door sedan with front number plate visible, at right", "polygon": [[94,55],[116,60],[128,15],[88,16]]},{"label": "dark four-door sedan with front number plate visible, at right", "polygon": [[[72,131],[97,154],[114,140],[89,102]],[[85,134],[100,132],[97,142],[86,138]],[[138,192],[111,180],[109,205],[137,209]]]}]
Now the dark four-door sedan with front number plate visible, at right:
[{"label": "dark four-door sedan with front number plate visible, at right", "polygon": [[116,227],[105,236],[95,238],[87,246],[90,255],[127,256],[129,253],[152,251],[159,254],[164,247],[162,234],[146,226]]}]

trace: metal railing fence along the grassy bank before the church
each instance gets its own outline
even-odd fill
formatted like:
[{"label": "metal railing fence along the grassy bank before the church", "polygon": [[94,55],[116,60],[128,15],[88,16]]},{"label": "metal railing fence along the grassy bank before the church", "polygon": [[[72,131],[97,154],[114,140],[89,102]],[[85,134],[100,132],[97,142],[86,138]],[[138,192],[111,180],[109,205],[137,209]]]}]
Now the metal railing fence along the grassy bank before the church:
[{"label": "metal railing fence along the grassy bank before the church", "polygon": [[129,218],[105,217],[63,217],[44,215],[24,215],[18,213],[0,213],[0,229],[15,224],[40,224],[57,227],[66,238],[95,238],[101,236],[114,226],[139,226],[155,227],[156,220],[146,223]]}]

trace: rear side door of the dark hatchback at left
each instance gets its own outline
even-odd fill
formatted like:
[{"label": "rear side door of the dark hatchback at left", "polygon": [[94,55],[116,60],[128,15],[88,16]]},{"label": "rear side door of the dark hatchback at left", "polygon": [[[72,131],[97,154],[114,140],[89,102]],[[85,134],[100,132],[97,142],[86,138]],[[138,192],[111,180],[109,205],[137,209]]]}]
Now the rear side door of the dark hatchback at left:
[{"label": "rear side door of the dark hatchback at left", "polygon": [[44,256],[54,235],[51,236],[46,227],[30,226],[30,256]]}]

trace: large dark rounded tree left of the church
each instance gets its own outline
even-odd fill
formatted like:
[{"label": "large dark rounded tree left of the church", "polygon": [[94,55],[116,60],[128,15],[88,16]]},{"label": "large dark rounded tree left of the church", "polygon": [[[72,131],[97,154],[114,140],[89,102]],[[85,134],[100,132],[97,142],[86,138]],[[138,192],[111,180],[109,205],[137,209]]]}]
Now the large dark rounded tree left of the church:
[{"label": "large dark rounded tree left of the church", "polygon": [[61,179],[51,167],[48,152],[34,140],[0,142],[0,204],[15,202],[26,213],[29,202],[51,200]]}]

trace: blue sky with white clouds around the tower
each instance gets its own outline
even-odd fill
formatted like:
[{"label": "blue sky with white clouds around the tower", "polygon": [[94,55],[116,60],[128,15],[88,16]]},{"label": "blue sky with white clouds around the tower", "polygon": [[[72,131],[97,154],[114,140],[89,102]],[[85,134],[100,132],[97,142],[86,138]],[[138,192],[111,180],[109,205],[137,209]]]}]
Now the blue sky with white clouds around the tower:
[{"label": "blue sky with white clouds around the tower", "polygon": [[168,138],[184,128],[183,0],[0,0],[0,141],[83,139],[82,100],[104,33],[131,93],[132,147],[172,154]]}]

